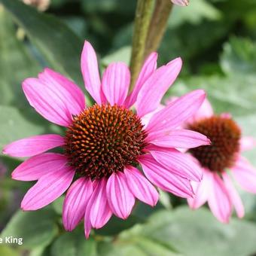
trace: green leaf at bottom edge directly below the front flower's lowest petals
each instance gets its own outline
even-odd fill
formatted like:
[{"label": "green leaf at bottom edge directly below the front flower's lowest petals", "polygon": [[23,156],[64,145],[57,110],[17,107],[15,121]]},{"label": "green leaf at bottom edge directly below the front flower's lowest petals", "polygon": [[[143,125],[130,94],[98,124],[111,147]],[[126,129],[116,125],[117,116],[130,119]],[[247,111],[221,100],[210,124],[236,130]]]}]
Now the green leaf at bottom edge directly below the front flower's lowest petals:
[{"label": "green leaf at bottom edge directly below the front flower's lowest petals", "polygon": [[52,256],[96,256],[96,241],[92,238],[85,239],[84,231],[76,229],[59,236],[50,252]]}]

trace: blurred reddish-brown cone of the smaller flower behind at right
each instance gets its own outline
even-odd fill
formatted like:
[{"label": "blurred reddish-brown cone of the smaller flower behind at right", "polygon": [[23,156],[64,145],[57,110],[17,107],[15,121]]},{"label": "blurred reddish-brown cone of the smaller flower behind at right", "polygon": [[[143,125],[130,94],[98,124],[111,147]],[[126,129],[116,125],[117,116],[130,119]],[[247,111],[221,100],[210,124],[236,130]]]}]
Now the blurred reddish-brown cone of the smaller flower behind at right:
[{"label": "blurred reddish-brown cone of the smaller flower behind at right", "polygon": [[198,133],[207,136],[212,144],[190,149],[203,167],[212,172],[223,172],[225,168],[233,166],[236,153],[239,152],[239,140],[241,131],[239,126],[227,117],[213,116],[188,127]]}]

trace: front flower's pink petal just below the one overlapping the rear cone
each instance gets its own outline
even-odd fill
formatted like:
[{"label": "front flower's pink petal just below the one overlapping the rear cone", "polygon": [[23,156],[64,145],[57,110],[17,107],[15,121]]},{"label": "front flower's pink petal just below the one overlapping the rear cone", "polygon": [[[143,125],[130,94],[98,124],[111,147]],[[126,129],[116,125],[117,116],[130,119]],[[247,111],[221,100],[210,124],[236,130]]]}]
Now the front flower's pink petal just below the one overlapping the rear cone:
[{"label": "front flower's pink petal just below the one overlapping the rear cone", "polygon": [[201,181],[202,169],[190,156],[175,149],[165,151],[150,151],[157,162],[170,172],[192,181]]}]

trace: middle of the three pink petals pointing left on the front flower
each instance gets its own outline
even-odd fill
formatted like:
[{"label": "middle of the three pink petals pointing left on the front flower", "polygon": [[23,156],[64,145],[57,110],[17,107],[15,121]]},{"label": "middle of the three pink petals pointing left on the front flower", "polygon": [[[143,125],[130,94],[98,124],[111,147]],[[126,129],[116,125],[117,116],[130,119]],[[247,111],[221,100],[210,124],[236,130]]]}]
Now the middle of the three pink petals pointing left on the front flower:
[{"label": "middle of the three pink petals pointing left on the front flower", "polygon": [[55,172],[67,164],[67,158],[63,154],[45,153],[31,157],[21,163],[11,178],[18,181],[35,181],[50,172]]}]

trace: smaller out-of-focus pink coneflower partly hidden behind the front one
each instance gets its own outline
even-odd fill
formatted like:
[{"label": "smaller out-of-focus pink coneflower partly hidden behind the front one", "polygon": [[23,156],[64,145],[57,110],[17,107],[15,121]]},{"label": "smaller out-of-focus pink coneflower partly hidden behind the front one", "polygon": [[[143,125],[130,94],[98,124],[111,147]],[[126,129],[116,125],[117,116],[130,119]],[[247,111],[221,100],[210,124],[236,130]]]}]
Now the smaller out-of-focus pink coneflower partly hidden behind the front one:
[{"label": "smaller out-of-focus pink coneflower partly hidden behind the front one", "polygon": [[197,209],[207,201],[221,222],[229,221],[233,207],[242,218],[244,207],[230,174],[244,190],[256,193],[256,169],[241,155],[255,145],[254,139],[241,136],[240,127],[230,114],[214,114],[207,100],[187,122],[187,128],[203,133],[212,141],[210,146],[189,151],[203,170],[200,184],[191,181],[196,196],[187,200],[190,208]]}]

